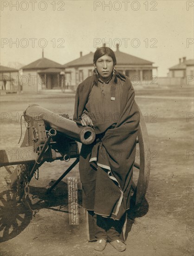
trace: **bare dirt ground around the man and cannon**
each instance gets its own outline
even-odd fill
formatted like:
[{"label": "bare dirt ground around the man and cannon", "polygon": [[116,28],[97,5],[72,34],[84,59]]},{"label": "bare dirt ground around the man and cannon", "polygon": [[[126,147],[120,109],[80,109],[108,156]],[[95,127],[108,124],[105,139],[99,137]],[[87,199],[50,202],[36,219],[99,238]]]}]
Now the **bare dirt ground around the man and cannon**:
[{"label": "bare dirt ground around the man and cannon", "polygon": [[[39,104],[72,117],[74,94],[1,95],[0,146],[17,146],[19,115],[28,104]],[[117,252],[110,244],[102,252],[87,242],[78,182],[79,225],[69,224],[67,177],[50,195],[52,182],[73,162],[55,161],[39,168],[39,180],[30,182],[33,212],[17,205],[6,188],[7,172],[0,169],[0,254],[2,256],[192,256],[194,255],[193,89],[136,90],[145,118],[151,157],[149,187],[139,209],[128,212],[127,249]],[[23,125],[24,135],[24,125]],[[79,145],[80,146],[80,145]],[[76,166],[68,176],[78,176]]]}]

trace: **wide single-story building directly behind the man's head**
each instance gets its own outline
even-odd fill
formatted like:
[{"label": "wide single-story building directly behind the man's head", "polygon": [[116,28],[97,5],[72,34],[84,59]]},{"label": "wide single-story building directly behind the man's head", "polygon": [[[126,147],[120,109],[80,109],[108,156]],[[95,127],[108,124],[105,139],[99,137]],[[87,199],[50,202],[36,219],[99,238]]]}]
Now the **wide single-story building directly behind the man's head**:
[{"label": "wide single-story building directly behind the man's head", "polygon": [[[140,84],[142,81],[152,80],[153,67],[152,61],[146,61],[136,56],[119,51],[117,44],[116,51],[116,69],[129,76],[134,84]],[[80,82],[93,74],[93,56],[94,53],[83,55],[80,52],[78,59],[70,61],[65,67],[65,85],[78,86]]]}]

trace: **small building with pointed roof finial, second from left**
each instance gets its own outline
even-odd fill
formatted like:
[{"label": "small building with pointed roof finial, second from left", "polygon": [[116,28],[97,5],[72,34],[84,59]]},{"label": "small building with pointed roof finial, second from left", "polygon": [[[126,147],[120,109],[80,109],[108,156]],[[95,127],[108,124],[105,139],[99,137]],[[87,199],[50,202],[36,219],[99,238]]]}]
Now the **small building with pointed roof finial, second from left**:
[{"label": "small building with pointed roof finial, second from left", "polygon": [[44,57],[22,67],[19,77],[23,92],[39,92],[43,89],[64,88],[63,65]]}]

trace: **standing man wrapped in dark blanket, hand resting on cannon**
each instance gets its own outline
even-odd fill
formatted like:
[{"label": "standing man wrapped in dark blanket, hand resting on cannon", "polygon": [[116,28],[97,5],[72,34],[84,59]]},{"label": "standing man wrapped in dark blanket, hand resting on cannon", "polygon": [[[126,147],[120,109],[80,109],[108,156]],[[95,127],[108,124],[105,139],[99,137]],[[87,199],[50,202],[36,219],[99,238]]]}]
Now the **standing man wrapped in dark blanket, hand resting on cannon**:
[{"label": "standing man wrapped in dark blanket, hand resting on cannon", "polygon": [[93,75],[78,85],[73,116],[96,132],[80,152],[83,207],[93,220],[94,249],[109,242],[123,251],[140,115],[129,78],[115,70],[114,52],[98,48],[93,63]]}]

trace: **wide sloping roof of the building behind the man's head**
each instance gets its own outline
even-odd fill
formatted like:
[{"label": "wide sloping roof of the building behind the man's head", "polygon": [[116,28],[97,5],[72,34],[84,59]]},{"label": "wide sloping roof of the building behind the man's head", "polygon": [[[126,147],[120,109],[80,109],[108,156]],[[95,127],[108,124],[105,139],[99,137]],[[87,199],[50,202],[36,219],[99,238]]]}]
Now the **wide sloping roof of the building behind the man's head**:
[{"label": "wide sloping roof of the building behind the man's head", "polygon": [[[114,52],[116,56],[117,65],[152,65],[154,62],[146,61],[136,56],[125,54],[117,50]],[[90,52],[84,56],[80,56],[74,61],[70,61],[64,67],[87,66],[93,65],[94,53]]]}]

